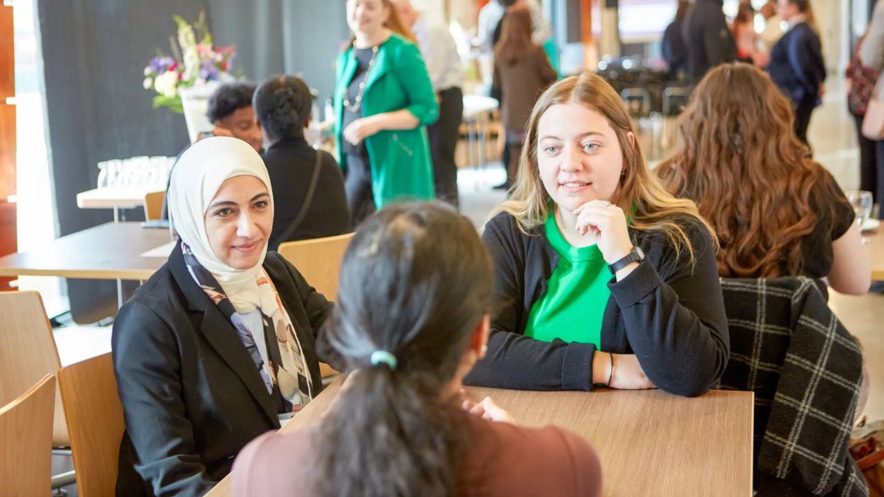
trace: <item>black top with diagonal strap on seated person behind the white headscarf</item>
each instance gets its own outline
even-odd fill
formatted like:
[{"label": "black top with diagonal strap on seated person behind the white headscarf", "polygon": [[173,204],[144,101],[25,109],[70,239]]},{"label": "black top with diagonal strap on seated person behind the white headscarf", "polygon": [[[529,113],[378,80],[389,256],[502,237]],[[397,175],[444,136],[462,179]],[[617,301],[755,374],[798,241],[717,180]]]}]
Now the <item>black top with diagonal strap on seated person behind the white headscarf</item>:
[{"label": "black top with diagonal strap on seated person behind the white headscarf", "polygon": [[[280,236],[301,212],[316,167],[319,178],[307,214],[286,240]],[[309,240],[350,232],[350,213],[344,193],[344,177],[331,154],[313,149],[302,136],[278,141],[262,158],[273,188],[273,231],[267,249],[276,250],[283,241]]]}]

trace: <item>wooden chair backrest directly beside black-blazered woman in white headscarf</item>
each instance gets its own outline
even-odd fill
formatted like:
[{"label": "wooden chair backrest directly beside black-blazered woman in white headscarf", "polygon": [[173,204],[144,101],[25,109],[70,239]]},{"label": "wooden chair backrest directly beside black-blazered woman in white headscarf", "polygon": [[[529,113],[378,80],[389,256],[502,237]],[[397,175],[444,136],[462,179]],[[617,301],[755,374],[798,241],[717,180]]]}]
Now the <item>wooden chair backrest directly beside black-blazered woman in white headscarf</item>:
[{"label": "wooden chair backrest directly beside black-blazered woman in white headscarf", "polygon": [[62,368],[58,388],[65,404],[80,495],[113,495],[119,440],[126,422],[110,353]]}]

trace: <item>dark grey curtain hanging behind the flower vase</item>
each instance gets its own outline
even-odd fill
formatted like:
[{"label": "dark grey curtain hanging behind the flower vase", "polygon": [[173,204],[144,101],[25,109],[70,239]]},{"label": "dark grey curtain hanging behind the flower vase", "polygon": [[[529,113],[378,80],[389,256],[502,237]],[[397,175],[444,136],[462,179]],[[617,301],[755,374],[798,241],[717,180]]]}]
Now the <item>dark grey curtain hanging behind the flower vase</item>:
[{"label": "dark grey curtain hanging behind the flower vase", "polygon": [[[156,48],[169,52],[169,36],[177,30],[172,14],[195,20],[205,11],[215,43],[237,48],[234,71],[256,82],[302,73],[321,101],[331,96],[334,58],[349,36],[343,0],[36,3],[59,235],[112,219],[110,210],[77,208],[76,195],[95,187],[99,161],[175,156],[187,145],[184,118],[153,109],[152,92],[141,87]],[[143,219],[143,212],[128,210],[126,218]],[[69,279],[68,294],[78,322],[112,315],[116,308],[112,281]]]}]

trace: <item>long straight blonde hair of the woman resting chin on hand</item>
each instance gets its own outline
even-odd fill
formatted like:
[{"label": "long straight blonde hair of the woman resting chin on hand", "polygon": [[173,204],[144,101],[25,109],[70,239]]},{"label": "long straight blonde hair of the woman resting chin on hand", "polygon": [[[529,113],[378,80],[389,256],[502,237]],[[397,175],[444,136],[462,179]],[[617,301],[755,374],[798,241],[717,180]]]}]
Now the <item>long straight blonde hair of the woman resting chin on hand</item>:
[{"label": "long straight blonde hair of the woman resting chin on hand", "polygon": [[525,134],[525,145],[519,160],[513,195],[492,212],[507,212],[516,220],[520,231],[531,234],[549,216],[549,195],[540,180],[537,165],[537,125],[552,105],[580,103],[597,111],[607,119],[620,142],[623,154],[623,175],[620,179],[620,195],[612,201],[630,213],[630,226],[644,232],[657,232],[666,236],[676,254],[687,248],[690,262],[696,257],[690,236],[682,227],[683,222],[696,220],[709,230],[713,246],[717,248],[712,226],[697,212],[690,200],[675,198],[669,194],[652,175],[644,162],[641,147],[634,139],[632,122],[620,96],[611,85],[594,73],[571,76],[547,88],[534,105]]}]

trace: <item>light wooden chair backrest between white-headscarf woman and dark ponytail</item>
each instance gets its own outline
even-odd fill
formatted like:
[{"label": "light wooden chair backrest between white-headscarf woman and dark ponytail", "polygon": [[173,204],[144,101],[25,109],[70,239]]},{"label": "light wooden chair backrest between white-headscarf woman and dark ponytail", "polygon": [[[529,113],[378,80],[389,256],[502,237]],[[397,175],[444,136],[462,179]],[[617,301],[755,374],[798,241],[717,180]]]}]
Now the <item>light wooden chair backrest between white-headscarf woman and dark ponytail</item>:
[{"label": "light wooden chair backrest between white-headscarf woman and dark ponytail", "polygon": [[338,279],[344,252],[353,233],[314,240],[280,243],[279,255],[294,265],[307,282],[330,301],[338,299]]}]

